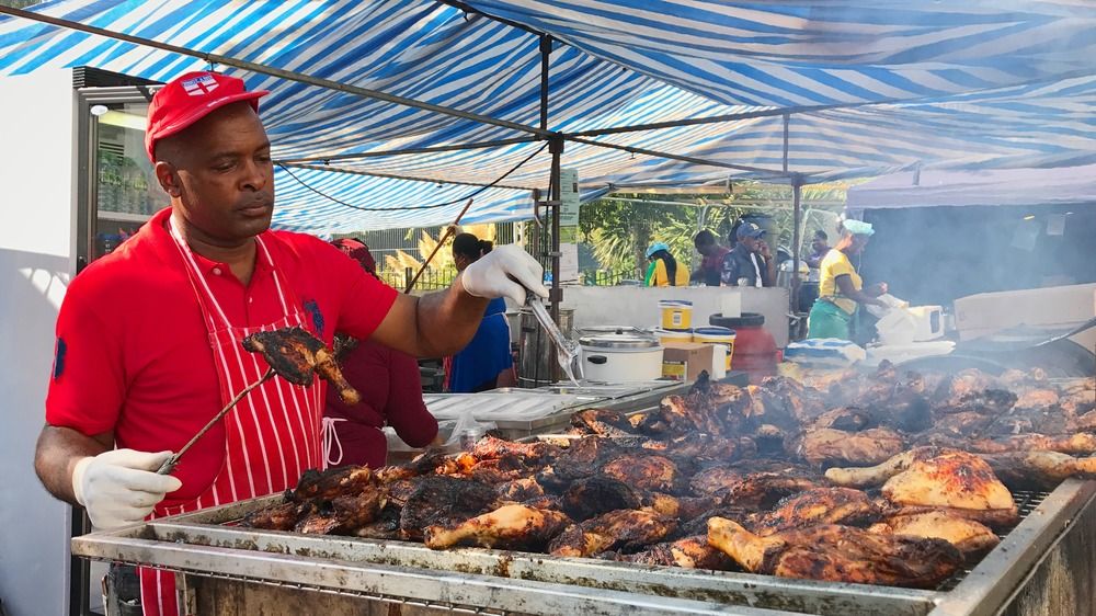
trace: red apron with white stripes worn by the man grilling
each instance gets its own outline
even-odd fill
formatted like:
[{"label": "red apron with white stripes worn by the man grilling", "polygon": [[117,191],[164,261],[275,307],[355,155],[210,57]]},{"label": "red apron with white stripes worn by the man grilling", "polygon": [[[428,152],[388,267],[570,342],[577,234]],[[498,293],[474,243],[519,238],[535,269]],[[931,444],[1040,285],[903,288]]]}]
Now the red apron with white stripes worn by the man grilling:
[{"label": "red apron with white stripes worn by the man grilling", "polygon": [[[214,296],[190,247],[171,223],[169,230],[202,306],[220,380],[221,403],[227,404],[237,392],[262,378],[267,368],[261,355],[248,353],[240,345],[244,336],[294,326],[312,331],[313,326],[261,238],[255,238],[255,259],[265,259],[271,264],[283,316],[258,327],[236,327]],[[252,390],[222,420],[225,463],[213,483],[194,500],[164,499],[151,517],[191,513],[296,486],[301,472],[320,468],[326,461],[320,440],[323,397],[321,379],[301,387],[283,378],[272,378]],[[173,573],[141,569],[140,581],[145,616],[178,616]]]}]

